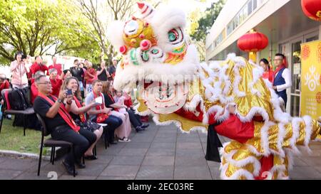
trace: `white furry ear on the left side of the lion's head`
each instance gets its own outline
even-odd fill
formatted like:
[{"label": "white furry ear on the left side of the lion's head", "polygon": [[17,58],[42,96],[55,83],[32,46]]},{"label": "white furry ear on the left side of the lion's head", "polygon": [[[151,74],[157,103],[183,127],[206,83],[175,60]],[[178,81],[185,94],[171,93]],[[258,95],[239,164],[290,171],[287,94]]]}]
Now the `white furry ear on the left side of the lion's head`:
[{"label": "white furry ear on the left side of the lion's head", "polygon": [[125,45],[123,42],[123,28],[125,23],[123,21],[113,21],[107,29],[107,38],[111,41],[111,44],[119,50],[122,45]]}]

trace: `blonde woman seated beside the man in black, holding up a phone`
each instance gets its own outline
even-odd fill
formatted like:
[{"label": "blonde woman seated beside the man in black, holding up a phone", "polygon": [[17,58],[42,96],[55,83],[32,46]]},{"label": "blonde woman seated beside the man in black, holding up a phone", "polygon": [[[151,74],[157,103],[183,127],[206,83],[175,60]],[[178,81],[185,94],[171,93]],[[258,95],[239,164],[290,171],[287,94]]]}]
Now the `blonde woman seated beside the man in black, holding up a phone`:
[{"label": "blonde woman seated beside the man in black, holding up a phone", "polygon": [[73,94],[72,102],[65,102],[69,104],[70,109],[67,109],[70,112],[71,117],[76,122],[78,126],[83,127],[84,129],[88,129],[89,131],[96,134],[96,141],[88,148],[88,150],[84,153],[85,158],[88,160],[96,160],[97,157],[93,155],[93,147],[96,145],[97,141],[101,138],[103,134],[103,127],[94,122],[90,122],[86,119],[85,112],[87,112],[92,107],[96,107],[96,102],[91,102],[87,106],[82,106],[81,100],[81,91],[79,90],[78,79],[76,77],[68,77],[63,81],[63,85],[61,86],[61,90],[71,90]]}]

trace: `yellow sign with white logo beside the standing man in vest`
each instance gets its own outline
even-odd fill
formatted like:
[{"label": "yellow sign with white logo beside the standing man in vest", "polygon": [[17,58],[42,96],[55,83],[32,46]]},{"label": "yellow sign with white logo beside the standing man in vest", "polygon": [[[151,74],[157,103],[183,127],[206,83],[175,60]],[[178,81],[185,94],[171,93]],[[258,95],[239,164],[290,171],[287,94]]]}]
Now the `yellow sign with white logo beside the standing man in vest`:
[{"label": "yellow sign with white logo beside the standing man in vest", "polygon": [[321,117],[321,41],[301,44],[301,112]]}]

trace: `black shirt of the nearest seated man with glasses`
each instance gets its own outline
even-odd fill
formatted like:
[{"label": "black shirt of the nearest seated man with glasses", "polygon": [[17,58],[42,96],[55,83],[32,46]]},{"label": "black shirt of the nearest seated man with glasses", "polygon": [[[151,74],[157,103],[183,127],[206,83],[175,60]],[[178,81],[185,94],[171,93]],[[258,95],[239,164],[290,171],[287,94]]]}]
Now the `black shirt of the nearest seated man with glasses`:
[{"label": "black shirt of the nearest seated man with glasses", "polygon": [[[49,99],[54,101],[52,97],[49,97]],[[34,100],[34,112],[40,114],[40,116],[44,119],[44,122],[47,126],[47,130],[52,131],[57,126],[68,125],[58,113],[52,119],[46,117],[46,114],[47,112],[49,112],[50,108],[51,104],[49,104],[49,102],[47,102],[46,99],[43,99],[42,97],[36,97],[36,99]]]}]

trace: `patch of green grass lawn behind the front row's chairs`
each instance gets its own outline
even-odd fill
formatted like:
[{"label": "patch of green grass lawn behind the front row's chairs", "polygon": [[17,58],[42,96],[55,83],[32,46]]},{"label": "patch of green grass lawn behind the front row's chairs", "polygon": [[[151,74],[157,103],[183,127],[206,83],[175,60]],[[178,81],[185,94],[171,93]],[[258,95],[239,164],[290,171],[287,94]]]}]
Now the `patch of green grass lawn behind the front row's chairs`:
[{"label": "patch of green grass lawn behind the front row's chairs", "polygon": [[[11,120],[4,119],[0,133],[0,150],[19,151],[21,153],[37,153],[40,151],[41,131],[26,129],[22,126],[12,126],[14,116]],[[44,148],[46,154],[46,148]]]}]

